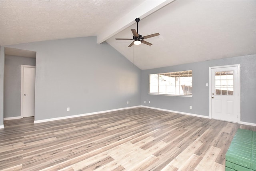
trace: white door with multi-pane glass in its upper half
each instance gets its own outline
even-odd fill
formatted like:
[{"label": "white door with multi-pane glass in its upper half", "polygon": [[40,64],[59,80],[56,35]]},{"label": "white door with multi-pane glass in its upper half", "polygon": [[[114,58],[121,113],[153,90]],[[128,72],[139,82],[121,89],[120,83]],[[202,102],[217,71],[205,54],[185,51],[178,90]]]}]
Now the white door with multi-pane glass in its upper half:
[{"label": "white door with multi-pane glass in its upper half", "polygon": [[238,123],[238,66],[211,69],[211,117]]}]

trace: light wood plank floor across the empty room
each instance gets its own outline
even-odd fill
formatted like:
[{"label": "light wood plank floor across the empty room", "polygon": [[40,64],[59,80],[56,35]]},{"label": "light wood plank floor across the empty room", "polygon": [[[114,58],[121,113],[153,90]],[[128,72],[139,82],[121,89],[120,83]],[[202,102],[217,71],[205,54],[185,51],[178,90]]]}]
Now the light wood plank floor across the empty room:
[{"label": "light wood plank floor across the empty room", "polygon": [[34,124],[4,121],[0,170],[224,171],[240,127],[143,107]]}]

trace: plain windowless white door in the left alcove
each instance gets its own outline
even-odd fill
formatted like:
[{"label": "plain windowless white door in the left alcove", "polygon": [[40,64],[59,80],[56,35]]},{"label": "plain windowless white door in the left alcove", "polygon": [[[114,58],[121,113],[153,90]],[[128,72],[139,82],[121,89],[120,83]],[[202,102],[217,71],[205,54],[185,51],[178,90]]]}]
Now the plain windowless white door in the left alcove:
[{"label": "plain windowless white door in the left alcove", "polygon": [[35,112],[35,66],[22,66],[22,117],[34,116]]}]

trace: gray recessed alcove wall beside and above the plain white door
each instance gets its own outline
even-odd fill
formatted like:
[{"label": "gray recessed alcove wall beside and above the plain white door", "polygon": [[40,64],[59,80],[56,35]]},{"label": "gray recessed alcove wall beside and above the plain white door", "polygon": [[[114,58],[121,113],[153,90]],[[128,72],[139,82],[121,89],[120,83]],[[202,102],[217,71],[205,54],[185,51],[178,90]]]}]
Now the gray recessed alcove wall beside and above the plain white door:
[{"label": "gray recessed alcove wall beside and above the plain white door", "polygon": [[36,58],[5,56],[4,118],[20,116],[21,65],[36,66]]}]

